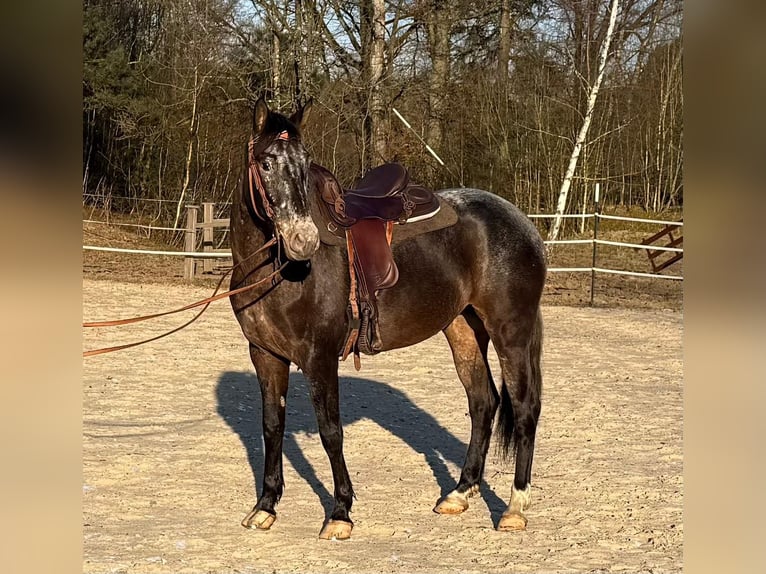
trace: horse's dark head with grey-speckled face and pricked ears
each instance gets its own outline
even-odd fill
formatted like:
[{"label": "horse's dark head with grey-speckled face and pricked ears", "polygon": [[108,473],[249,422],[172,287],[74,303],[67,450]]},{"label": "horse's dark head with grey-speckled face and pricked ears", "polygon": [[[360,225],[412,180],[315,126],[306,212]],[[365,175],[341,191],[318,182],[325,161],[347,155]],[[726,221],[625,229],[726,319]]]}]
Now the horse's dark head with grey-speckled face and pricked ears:
[{"label": "horse's dark head with grey-speckled face and pricked ears", "polygon": [[309,259],[319,248],[319,230],[309,211],[310,159],[301,142],[310,107],[311,101],[299,106],[288,119],[269,111],[265,100],[259,99],[248,146],[252,208],[273,224],[287,257],[294,261]]}]

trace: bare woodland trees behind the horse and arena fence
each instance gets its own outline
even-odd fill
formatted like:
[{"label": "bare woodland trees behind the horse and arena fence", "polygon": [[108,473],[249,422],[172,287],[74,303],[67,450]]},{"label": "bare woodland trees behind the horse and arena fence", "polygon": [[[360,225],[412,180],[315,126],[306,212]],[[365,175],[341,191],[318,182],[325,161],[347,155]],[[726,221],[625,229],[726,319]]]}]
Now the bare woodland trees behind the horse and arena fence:
[{"label": "bare woodland trees behind the horse and arena fence", "polygon": [[[252,105],[313,99],[314,161],[398,161],[433,188],[555,210],[598,72],[606,0],[85,0],[83,201],[230,201]],[[566,211],[683,206],[682,2],[623,0]],[[408,129],[396,109],[412,126]],[[427,142],[444,161],[427,151]],[[159,201],[157,201],[159,200]],[[144,208],[142,208],[144,209]]]}]

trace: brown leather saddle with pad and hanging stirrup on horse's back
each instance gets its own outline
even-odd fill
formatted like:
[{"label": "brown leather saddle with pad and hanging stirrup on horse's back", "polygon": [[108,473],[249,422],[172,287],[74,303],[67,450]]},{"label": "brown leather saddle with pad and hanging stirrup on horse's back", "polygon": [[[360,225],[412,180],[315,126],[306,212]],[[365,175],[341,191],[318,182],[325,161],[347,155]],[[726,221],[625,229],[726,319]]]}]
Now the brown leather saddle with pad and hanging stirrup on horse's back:
[{"label": "brown leather saddle with pad and hanging stirrup on horse's back", "polygon": [[317,164],[312,164],[310,178],[317,192],[311,207],[320,239],[330,245],[345,243],[348,251],[349,328],[341,358],[353,352],[359,370],[360,352],[374,355],[383,347],[377,293],[399,279],[391,245],[453,225],[457,214],[442,198],[411,183],[407,170],[396,163],[370,170],[350,189]]}]

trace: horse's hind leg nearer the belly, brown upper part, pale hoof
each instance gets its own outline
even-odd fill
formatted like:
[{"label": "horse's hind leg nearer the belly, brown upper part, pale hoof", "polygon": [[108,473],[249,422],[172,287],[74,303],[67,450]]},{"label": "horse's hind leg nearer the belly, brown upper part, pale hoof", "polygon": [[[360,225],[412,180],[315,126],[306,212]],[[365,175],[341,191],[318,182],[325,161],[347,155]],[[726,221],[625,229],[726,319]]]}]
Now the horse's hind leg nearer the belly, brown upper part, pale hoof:
[{"label": "horse's hind leg nearer the belly, brown upper part, pale hoof", "polygon": [[498,396],[487,363],[489,335],[474,311],[470,308],[464,311],[444,329],[444,334],[468,395],[471,442],[457,487],[439,501],[434,512],[459,514],[468,508],[468,498],[479,490]]}]

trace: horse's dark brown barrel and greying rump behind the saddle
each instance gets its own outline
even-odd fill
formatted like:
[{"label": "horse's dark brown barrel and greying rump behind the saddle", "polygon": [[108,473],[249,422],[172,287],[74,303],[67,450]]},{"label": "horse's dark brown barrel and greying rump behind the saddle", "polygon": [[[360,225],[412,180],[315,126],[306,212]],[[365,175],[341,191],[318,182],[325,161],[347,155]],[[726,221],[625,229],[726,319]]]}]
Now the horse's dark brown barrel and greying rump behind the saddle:
[{"label": "horse's dark brown barrel and greying rump behind the saddle", "polygon": [[378,297],[387,349],[430,337],[469,305],[489,309],[504,301],[516,313],[537,313],[545,251],[529,218],[486,191],[438,194],[458,213],[458,221],[394,247],[399,282]]}]

